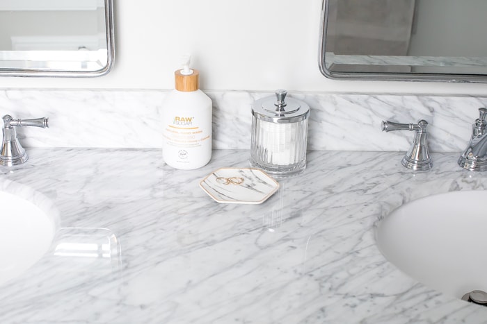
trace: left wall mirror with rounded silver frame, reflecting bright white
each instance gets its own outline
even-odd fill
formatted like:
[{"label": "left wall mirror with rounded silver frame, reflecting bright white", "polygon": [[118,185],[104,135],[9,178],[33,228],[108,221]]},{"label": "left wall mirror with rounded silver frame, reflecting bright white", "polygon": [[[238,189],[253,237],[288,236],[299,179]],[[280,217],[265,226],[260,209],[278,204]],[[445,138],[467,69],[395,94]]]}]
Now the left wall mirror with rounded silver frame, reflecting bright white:
[{"label": "left wall mirror with rounded silver frame, reflecting bright white", "polygon": [[113,36],[112,0],[0,0],[0,76],[102,76]]}]

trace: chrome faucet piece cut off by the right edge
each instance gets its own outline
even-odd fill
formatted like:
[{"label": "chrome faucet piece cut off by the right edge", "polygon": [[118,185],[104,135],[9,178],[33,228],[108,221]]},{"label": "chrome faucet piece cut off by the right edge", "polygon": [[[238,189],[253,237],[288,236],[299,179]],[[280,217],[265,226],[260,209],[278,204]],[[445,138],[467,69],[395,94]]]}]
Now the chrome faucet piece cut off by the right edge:
[{"label": "chrome faucet piece cut off by the right edge", "polygon": [[470,171],[487,170],[487,109],[479,108],[479,118],[472,124],[472,137],[458,158],[458,165]]}]

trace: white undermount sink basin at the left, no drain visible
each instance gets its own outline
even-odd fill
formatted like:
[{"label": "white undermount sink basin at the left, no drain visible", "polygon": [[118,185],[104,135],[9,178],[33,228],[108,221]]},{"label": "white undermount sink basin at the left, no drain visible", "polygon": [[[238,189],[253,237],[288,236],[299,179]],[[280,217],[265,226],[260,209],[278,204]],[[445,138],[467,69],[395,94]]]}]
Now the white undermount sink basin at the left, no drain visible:
[{"label": "white undermount sink basin at the left, no drain visible", "polygon": [[0,284],[38,262],[49,250],[56,230],[54,210],[44,208],[45,199],[23,186],[20,191],[32,199],[0,191]]}]

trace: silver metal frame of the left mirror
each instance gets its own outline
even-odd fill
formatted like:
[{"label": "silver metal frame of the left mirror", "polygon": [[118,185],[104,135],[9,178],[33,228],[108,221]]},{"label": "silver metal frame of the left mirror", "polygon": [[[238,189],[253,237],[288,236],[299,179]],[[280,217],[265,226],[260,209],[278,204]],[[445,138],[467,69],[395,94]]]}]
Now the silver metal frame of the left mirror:
[{"label": "silver metal frame of the left mirror", "polygon": [[0,76],[29,76],[29,77],[61,77],[86,78],[104,76],[112,69],[115,62],[115,32],[113,18],[113,0],[104,0],[105,3],[105,31],[106,31],[106,65],[96,71],[70,71],[55,69],[29,69],[29,68],[1,68]]}]

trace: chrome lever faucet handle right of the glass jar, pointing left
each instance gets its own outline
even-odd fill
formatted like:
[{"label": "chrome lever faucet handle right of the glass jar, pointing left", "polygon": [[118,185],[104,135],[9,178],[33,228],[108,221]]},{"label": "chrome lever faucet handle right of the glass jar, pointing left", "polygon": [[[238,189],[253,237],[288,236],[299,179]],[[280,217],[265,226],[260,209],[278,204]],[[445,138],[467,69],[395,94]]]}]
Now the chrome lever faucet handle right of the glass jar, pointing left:
[{"label": "chrome lever faucet handle right of the glass jar, pointing left", "polygon": [[392,121],[383,121],[381,128],[384,132],[392,130],[415,130],[413,146],[404,155],[402,165],[408,169],[417,171],[426,171],[433,167],[428,150],[428,132],[426,132],[428,123],[420,120],[417,123],[393,123]]}]

